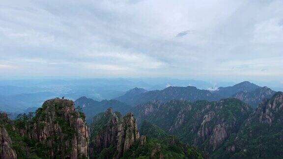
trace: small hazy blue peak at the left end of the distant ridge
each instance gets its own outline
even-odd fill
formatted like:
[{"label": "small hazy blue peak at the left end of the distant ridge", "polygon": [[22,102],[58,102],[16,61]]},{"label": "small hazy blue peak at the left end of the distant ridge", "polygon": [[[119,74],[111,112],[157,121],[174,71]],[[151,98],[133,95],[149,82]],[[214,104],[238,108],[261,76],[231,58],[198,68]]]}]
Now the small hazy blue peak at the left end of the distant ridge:
[{"label": "small hazy blue peak at the left end of the distant ridge", "polygon": [[125,102],[125,103],[134,103],[135,99],[138,98],[142,93],[147,92],[147,90],[143,88],[133,88],[128,90],[124,95],[116,98],[116,100]]}]

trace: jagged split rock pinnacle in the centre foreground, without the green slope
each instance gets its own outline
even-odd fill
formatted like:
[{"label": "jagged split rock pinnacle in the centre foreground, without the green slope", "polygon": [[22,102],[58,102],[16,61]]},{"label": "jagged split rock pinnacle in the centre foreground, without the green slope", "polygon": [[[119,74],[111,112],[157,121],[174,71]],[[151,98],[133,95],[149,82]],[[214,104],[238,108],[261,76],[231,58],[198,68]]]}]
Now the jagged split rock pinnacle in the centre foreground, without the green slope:
[{"label": "jagged split rock pinnacle in the centre foreground, without the green slope", "polygon": [[112,108],[94,117],[90,128],[90,157],[97,158],[103,150],[113,148],[113,158],[119,159],[140,140],[136,120],[132,113],[123,118]]}]

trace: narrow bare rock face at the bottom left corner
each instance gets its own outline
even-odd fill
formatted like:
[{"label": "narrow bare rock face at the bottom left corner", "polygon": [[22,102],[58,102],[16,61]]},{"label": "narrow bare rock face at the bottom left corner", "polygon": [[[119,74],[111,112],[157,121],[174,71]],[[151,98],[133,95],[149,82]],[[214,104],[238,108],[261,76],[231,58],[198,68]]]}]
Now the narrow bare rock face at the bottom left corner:
[{"label": "narrow bare rock face at the bottom left corner", "polygon": [[3,123],[7,123],[8,117],[6,113],[0,113],[0,159],[17,159],[16,151],[12,148],[12,140],[3,127]]}]

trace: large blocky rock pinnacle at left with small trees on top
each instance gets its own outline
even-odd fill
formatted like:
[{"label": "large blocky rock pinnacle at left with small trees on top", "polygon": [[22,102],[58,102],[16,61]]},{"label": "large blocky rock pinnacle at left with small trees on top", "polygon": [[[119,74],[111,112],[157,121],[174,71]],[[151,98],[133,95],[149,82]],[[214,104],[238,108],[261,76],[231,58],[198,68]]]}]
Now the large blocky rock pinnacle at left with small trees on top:
[{"label": "large blocky rock pinnacle at left with small trees on top", "polygon": [[75,110],[73,101],[57,98],[44,102],[33,121],[21,133],[46,145],[47,155],[51,158],[88,157],[85,115]]}]

